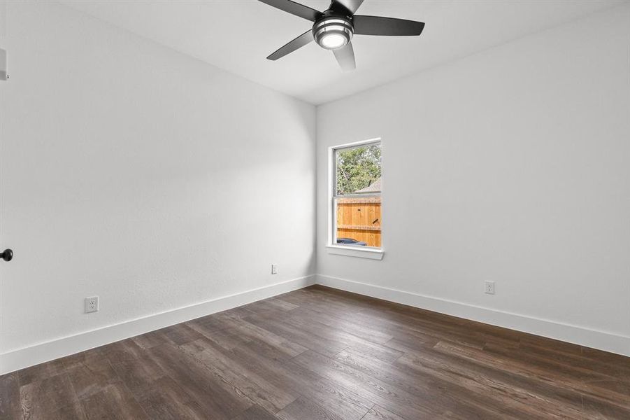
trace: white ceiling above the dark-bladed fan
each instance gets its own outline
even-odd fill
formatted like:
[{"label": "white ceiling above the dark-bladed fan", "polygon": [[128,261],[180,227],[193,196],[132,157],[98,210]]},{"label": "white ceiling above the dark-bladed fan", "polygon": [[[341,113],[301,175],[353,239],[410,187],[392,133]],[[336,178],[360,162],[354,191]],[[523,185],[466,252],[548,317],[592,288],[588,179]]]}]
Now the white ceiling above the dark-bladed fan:
[{"label": "white ceiling above the dark-bladed fan", "polygon": [[[302,0],[324,10],[329,0]],[[322,104],[470,55],[624,0],[366,0],[357,14],[426,23],[420,37],[356,36],[343,73],[315,43],[265,57],[312,24],[257,0],[64,0],[68,6],[222,69]]]}]

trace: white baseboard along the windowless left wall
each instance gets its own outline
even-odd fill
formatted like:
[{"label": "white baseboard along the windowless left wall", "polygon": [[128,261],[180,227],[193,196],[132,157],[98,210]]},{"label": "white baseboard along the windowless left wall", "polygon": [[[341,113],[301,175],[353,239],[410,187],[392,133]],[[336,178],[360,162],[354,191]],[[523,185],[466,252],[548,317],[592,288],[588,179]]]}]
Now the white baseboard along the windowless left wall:
[{"label": "white baseboard along the windowless left wall", "polygon": [[264,286],[243,293],[218,297],[217,299],[208,300],[207,302],[192,304],[187,307],[172,309],[170,311],[125,321],[115,325],[108,325],[96,330],[80,332],[76,335],[35,344],[33,346],[24,347],[23,349],[8,351],[7,353],[0,354],[0,374],[13,372],[24,367],[55,360],[56,358],[70,356],[71,354],[94,349],[94,347],[103,346],[121,339],[159,330],[159,328],[168,327],[169,325],[190,321],[194,318],[287,293],[292,290],[310,286],[314,282],[314,275],[301,277],[299,279],[276,283],[271,286]]}]

